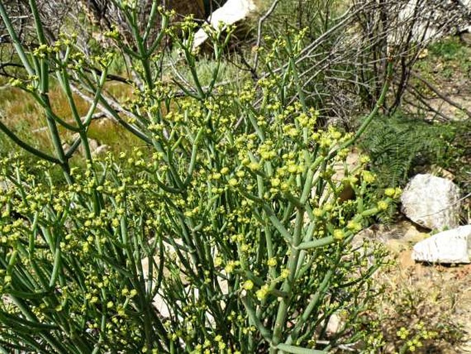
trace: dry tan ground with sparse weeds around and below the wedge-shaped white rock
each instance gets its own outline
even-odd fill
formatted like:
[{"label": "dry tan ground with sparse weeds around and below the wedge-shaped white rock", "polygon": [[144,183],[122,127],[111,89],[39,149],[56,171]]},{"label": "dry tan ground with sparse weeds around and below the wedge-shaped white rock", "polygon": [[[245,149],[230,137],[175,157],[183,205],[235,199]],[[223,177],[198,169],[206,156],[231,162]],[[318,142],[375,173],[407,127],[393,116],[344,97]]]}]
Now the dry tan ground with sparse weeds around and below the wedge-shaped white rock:
[{"label": "dry tan ground with sparse weeds around and below the wedge-shaped white rock", "polygon": [[416,353],[471,353],[471,264],[415,262],[413,245],[429,234],[406,219],[390,227],[371,227],[364,236],[383,242],[393,259],[393,265],[375,277],[385,289],[376,314],[388,343],[384,352],[398,350],[401,328],[412,340],[422,322],[437,337],[422,341]]}]

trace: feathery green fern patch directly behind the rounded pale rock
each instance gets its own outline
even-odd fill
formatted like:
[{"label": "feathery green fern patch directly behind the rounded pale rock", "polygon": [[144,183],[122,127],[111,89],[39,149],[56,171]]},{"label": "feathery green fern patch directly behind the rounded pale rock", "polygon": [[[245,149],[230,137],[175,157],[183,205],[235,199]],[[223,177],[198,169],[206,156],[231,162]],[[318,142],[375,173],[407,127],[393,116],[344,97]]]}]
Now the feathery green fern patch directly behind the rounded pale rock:
[{"label": "feathery green fern patch directly behind the rounded pale rock", "polygon": [[[470,193],[469,129],[469,120],[428,123],[405,112],[377,117],[358,144],[370,156],[370,169],[376,176],[372,197],[387,187],[405,187],[419,172],[442,176],[443,170],[454,176],[463,195]],[[391,222],[396,213],[397,205],[390,205],[380,218]]]}]

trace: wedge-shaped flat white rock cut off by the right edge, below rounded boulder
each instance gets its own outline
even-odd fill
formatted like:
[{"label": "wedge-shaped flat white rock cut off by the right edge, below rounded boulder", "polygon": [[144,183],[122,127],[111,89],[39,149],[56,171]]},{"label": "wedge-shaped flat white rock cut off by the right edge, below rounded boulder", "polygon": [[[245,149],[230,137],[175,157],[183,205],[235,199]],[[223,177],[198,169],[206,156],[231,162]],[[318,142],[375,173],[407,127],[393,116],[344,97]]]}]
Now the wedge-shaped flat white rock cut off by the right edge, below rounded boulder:
[{"label": "wedge-shaped flat white rock cut off by the right edge, below rounded boulder", "polygon": [[413,260],[430,263],[471,263],[471,225],[442,231],[415,244]]}]

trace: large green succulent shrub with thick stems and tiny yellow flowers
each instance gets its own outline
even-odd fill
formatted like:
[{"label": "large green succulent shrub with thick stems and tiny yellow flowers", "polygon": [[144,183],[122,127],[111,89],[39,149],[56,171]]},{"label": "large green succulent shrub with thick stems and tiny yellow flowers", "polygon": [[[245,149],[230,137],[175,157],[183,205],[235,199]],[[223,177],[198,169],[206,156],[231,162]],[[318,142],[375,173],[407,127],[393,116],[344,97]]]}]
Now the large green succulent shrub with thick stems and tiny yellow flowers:
[{"label": "large green succulent shrub with thick stems and tiny yellow flowers", "polygon": [[[0,351],[309,354],[366,346],[361,315],[384,251],[351,240],[397,191],[365,202],[374,180],[367,159],[352,171],[345,160],[388,85],[357,134],[319,129],[294,60],[303,33],[266,50],[268,66],[281,50],[289,65],[234,90],[218,85],[228,37],[219,39],[232,28],[210,30],[219,64],[202,86],[194,24],[169,28],[171,14],[156,3],[149,25],[162,16],[162,36],[149,43],[135,30],[135,47],[124,48],[137,75],[124,111],[102,90],[116,52],[87,58],[74,51],[73,37],[47,43],[33,0],[39,45],[30,51],[15,41],[0,3],[28,73],[13,83],[44,107],[54,148],[32,147],[0,125],[41,159],[34,174],[17,156],[0,161]],[[137,28],[135,3],[117,6]],[[118,32],[107,35],[121,43]],[[182,50],[191,83],[164,80],[164,35]],[[52,110],[52,74],[75,123]],[[72,81],[93,97],[85,117],[74,110]],[[98,106],[143,146],[92,156],[87,130]],[[78,133],[70,147],[67,130]],[[86,163],[74,167],[79,145]],[[50,177],[54,167],[62,183]],[[355,197],[342,200],[347,186]],[[329,332],[333,315],[340,326]]]}]

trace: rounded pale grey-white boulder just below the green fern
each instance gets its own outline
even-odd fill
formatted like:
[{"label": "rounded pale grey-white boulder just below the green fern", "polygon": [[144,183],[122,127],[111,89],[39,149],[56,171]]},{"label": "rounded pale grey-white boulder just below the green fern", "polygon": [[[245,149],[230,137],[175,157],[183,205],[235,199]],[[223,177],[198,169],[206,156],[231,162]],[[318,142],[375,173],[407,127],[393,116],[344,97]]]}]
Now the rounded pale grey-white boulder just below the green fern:
[{"label": "rounded pale grey-white boulder just below the green fern", "polygon": [[461,202],[459,187],[445,178],[417,174],[402,192],[402,212],[428,229],[458,226]]}]

